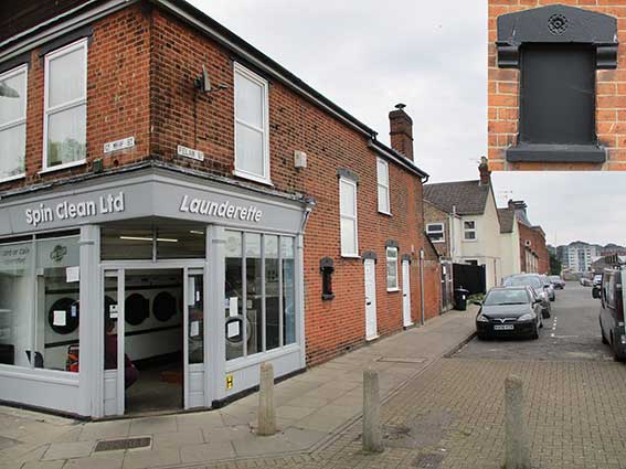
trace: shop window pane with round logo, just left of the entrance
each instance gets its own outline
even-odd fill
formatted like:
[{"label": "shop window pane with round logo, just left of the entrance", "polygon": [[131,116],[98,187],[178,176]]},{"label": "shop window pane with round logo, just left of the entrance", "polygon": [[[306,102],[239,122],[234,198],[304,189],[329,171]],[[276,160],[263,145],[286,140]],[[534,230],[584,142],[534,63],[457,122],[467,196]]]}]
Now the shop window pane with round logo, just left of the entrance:
[{"label": "shop window pane with round logo, just left of the entrance", "polygon": [[78,371],[78,237],[38,239],[34,365]]}]

